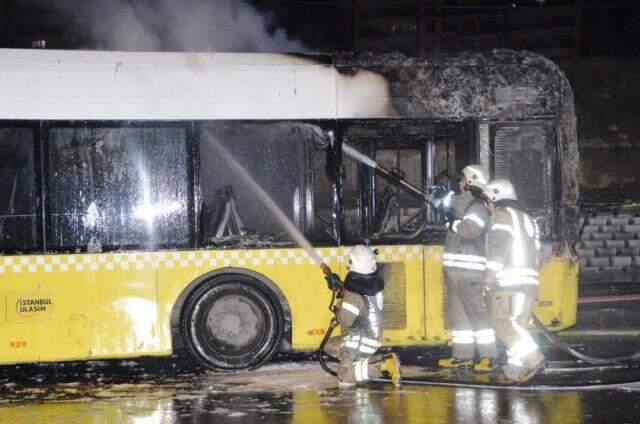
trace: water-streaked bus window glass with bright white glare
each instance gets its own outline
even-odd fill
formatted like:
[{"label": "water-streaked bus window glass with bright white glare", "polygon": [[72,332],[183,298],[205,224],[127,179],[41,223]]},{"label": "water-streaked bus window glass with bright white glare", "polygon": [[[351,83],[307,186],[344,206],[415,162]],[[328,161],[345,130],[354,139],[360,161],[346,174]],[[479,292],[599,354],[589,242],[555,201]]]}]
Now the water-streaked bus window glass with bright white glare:
[{"label": "water-streaked bus window glass with bright white glare", "polygon": [[188,244],[185,128],[56,127],[48,136],[51,248]]}]

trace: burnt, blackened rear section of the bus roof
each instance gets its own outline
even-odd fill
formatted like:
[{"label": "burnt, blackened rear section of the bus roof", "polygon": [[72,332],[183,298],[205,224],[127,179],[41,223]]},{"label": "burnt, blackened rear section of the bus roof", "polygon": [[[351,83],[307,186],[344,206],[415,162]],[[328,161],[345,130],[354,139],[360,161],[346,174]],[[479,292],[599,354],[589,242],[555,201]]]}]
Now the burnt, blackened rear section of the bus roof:
[{"label": "burnt, blackened rear section of the bus roof", "polygon": [[403,117],[522,120],[563,113],[573,93],[559,67],[535,53],[513,50],[464,52],[415,59],[395,55],[338,56],[336,68],[357,75],[375,71],[389,82]]}]

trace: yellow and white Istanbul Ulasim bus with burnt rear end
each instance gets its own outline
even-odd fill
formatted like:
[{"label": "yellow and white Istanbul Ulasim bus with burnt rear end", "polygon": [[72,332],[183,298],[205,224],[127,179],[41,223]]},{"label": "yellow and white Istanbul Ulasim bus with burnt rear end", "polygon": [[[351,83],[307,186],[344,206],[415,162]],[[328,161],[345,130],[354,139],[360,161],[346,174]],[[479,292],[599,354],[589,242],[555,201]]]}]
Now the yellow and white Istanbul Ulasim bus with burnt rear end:
[{"label": "yellow and white Istanbul Ulasim bus with burnt rear end", "polygon": [[422,189],[472,162],[510,178],[543,230],[536,313],[575,323],[573,96],[540,56],[0,50],[0,97],[2,364],[317,349],[322,272],[205,132],[335,272],[379,250],[385,346],[449,341],[444,232],[343,142]]}]

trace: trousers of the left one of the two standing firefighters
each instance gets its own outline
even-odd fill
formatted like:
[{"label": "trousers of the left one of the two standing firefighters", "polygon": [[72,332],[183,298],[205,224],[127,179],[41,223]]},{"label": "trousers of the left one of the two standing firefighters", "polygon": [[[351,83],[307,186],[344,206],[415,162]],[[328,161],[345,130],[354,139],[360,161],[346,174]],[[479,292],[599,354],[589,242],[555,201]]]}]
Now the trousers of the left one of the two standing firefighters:
[{"label": "trousers of the left one of the two standing firefighters", "polygon": [[453,354],[459,360],[497,358],[495,332],[484,303],[482,274],[447,270],[447,321],[453,335]]}]

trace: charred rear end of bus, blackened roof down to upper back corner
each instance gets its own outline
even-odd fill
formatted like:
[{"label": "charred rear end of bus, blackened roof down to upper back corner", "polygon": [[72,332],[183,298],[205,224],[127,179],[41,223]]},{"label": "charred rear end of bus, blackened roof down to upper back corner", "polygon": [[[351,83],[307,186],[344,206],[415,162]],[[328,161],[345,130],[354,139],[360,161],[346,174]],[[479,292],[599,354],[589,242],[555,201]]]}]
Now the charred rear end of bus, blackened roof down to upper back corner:
[{"label": "charred rear end of bus, blackened roof down to upper back corner", "polygon": [[[430,125],[416,132],[447,139],[446,165],[436,149],[427,164],[436,171],[427,181],[439,182],[438,170],[451,175],[480,163],[494,178],[514,183],[546,240],[574,240],[576,118],[571,87],[553,62],[498,50],[424,62],[364,56],[346,58],[337,69],[341,66],[345,72],[353,67],[384,75],[397,116],[428,120]],[[407,121],[401,126],[409,127]],[[398,138],[407,143],[412,137]]]}]

